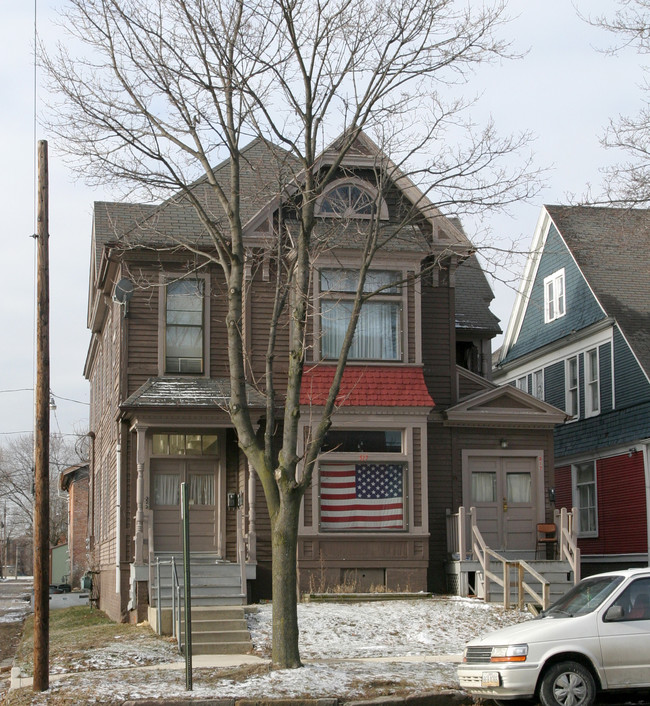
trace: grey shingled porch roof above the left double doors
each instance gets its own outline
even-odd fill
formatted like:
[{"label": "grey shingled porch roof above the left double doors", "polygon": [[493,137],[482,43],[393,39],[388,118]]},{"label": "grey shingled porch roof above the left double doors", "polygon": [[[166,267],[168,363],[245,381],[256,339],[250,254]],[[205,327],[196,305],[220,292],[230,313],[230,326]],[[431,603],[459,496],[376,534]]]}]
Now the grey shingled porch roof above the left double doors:
[{"label": "grey shingled porch roof above the left double doors", "polygon": [[[246,383],[249,407],[263,408],[266,398]],[[230,401],[230,380],[227,378],[149,378],[121,407],[219,407],[227,408]]]}]

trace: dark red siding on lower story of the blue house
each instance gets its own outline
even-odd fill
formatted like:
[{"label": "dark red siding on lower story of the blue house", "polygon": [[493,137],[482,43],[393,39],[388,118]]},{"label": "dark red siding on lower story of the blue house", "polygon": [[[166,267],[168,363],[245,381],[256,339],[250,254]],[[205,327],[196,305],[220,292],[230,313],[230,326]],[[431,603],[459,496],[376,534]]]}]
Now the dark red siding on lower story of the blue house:
[{"label": "dark red siding on lower story of the blue house", "polygon": [[[643,454],[636,452],[596,462],[598,536],[578,541],[583,555],[645,553],[647,517]],[[557,507],[572,505],[571,466],[555,469]]]}]

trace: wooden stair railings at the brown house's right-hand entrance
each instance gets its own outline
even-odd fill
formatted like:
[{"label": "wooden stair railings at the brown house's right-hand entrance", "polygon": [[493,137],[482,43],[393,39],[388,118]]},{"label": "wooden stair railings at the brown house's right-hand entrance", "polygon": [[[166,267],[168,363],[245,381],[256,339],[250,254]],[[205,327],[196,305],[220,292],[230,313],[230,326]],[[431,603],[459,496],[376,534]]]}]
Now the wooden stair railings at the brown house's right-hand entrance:
[{"label": "wooden stair railings at the brown house's right-hand entrance", "polygon": [[[558,527],[559,558],[566,559],[573,570],[574,583],[580,580],[580,550],[577,546],[574,518],[575,508],[556,511]],[[559,519],[559,523],[558,523]],[[447,511],[447,550],[454,559],[478,561],[483,574],[483,589],[486,601],[490,600],[490,584],[495,583],[503,591],[503,605],[511,605],[511,572],[516,571],[517,603],[523,608],[526,596],[530,596],[544,609],[550,605],[550,582],[539,574],[530,564],[522,559],[506,559],[490,549],[476,524],[476,509],[466,510],[459,507],[457,513]],[[491,569],[491,564],[501,565],[498,573]],[[533,587],[539,584],[539,590]]]}]

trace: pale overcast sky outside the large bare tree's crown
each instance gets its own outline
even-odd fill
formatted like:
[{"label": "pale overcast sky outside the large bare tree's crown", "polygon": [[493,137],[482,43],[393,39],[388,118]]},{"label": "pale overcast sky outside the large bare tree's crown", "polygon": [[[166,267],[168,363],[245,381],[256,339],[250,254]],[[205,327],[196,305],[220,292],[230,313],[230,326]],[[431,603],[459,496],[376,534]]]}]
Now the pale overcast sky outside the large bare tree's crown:
[{"label": "pale overcast sky outside the large bare tree's crown", "polygon": [[[48,41],[52,0],[37,0],[38,31]],[[576,0],[584,12],[611,12],[614,0]],[[633,52],[604,56],[596,51],[611,38],[581,21],[570,0],[510,0],[514,17],[505,30],[518,61],[482,69],[471,93],[483,92],[482,106],[502,133],[531,130],[539,166],[550,166],[548,186],[532,204],[493,217],[488,225],[506,239],[529,243],[540,206],[566,203],[587,183],[600,183],[599,168],[611,163],[599,136],[610,117],[632,114],[640,106],[642,72]],[[33,428],[35,232],[34,154],[34,4],[3,0],[0,6],[2,170],[2,276],[0,277],[0,443]],[[37,110],[42,110],[37,74]],[[88,383],[83,366],[88,348],[86,302],[92,204],[111,199],[91,191],[66,170],[56,142],[49,140],[51,389],[56,411],[54,432],[85,430]],[[471,238],[472,232],[468,228]],[[505,329],[514,301],[508,288],[495,286],[493,311]]]}]

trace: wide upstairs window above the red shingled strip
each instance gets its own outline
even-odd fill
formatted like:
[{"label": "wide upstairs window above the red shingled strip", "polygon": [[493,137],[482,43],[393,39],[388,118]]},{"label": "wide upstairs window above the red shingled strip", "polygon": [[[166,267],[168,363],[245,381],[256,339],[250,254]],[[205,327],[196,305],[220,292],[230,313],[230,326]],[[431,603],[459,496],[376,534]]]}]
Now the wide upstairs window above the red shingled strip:
[{"label": "wide upstairs window above the red shingled strip", "polygon": [[[377,292],[363,304],[350,347],[350,360],[402,358],[401,272],[371,271],[364,292]],[[321,356],[338,358],[350,322],[359,279],[357,270],[324,269],[320,273]]]}]

